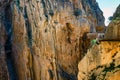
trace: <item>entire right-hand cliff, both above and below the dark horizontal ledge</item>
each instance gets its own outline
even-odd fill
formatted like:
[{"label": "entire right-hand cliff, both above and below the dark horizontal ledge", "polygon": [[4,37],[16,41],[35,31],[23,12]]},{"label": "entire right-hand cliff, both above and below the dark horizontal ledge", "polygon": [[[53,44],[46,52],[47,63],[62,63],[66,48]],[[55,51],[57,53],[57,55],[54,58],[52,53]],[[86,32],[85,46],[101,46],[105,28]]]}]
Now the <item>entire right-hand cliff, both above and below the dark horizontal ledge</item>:
[{"label": "entire right-hand cliff, both above and below the dark horizontal ledge", "polygon": [[105,37],[99,45],[89,48],[79,62],[78,80],[119,80],[120,79],[120,19],[115,16],[108,25]]}]

